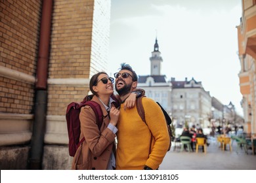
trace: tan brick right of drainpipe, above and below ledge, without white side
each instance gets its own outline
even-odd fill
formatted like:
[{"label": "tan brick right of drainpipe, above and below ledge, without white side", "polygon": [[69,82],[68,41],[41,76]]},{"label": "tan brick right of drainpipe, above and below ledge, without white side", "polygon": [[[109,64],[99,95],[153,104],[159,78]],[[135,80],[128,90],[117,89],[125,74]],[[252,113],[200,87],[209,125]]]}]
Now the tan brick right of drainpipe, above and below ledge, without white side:
[{"label": "tan brick right of drainpipe, above and below ledge, without white side", "polygon": [[[93,0],[56,0],[49,78],[89,78]],[[49,84],[47,115],[65,115],[68,103],[81,101],[88,86]]]}]

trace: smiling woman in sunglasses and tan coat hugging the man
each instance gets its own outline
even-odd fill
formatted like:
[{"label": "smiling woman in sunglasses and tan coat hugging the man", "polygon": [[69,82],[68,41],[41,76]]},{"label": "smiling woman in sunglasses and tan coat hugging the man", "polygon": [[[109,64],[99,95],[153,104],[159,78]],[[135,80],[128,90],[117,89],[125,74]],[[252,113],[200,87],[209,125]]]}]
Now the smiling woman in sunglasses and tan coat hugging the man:
[{"label": "smiling woman in sunglasses and tan coat hugging the man", "polygon": [[[100,72],[90,80],[90,90],[93,93],[92,101],[96,101],[103,112],[103,122],[98,129],[95,112],[88,105],[81,108],[79,119],[81,122],[80,141],[85,137],[75,153],[72,169],[81,170],[111,170],[116,167],[116,124],[119,110],[114,106],[110,97],[114,93],[114,78]],[[135,104],[136,94],[131,95],[127,107]]]}]

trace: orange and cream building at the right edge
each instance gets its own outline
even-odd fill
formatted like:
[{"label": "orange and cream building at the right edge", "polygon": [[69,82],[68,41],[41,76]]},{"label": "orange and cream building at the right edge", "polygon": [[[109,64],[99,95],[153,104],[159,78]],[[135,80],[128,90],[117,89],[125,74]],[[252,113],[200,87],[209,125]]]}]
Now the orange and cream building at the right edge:
[{"label": "orange and cream building at the right edge", "polygon": [[256,133],[256,0],[242,0],[242,18],[237,29],[244,130]]}]

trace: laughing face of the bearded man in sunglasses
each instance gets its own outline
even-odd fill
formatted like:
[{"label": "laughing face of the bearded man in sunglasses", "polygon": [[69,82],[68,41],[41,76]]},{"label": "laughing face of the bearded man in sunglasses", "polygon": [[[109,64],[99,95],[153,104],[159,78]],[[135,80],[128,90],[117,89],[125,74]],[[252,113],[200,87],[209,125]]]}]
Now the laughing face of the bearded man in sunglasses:
[{"label": "laughing face of the bearded man in sunglasses", "polygon": [[116,92],[121,95],[126,95],[131,92],[133,87],[133,73],[129,70],[121,70],[116,75]]}]

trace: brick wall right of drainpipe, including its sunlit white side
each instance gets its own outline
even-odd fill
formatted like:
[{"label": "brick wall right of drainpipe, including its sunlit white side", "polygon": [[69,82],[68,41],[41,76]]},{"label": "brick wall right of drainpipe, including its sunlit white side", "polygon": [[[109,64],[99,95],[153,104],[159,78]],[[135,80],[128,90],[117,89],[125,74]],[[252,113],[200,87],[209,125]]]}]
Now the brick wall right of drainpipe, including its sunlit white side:
[{"label": "brick wall right of drainpipe, including its sunlit white side", "polygon": [[65,115],[69,103],[88,94],[89,78],[106,71],[110,1],[56,0],[52,29],[49,78],[85,80],[83,84],[49,83],[47,115]]}]

